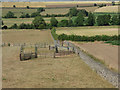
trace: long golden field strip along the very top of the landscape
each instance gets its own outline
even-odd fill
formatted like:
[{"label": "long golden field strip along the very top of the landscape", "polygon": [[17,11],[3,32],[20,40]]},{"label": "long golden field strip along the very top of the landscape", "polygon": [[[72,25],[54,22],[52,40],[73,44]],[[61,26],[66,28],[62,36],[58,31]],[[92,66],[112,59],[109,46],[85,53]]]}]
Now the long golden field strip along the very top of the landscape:
[{"label": "long golden field strip along the very top of the landscape", "polygon": [[65,2],[2,2],[2,7],[73,7],[76,5],[79,6],[89,6],[94,3],[102,4],[105,3],[107,5],[111,5],[110,1],[65,1]]}]

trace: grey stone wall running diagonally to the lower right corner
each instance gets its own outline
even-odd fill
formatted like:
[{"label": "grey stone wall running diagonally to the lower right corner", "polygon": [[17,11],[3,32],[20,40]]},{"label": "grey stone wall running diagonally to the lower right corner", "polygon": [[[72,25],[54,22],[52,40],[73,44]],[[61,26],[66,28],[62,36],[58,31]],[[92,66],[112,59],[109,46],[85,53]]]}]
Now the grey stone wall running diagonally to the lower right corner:
[{"label": "grey stone wall running diagonally to the lower right corner", "polygon": [[99,62],[96,62],[93,58],[88,56],[85,52],[83,52],[80,48],[76,47],[74,44],[70,42],[69,43],[71,47],[74,47],[76,50],[76,54],[80,56],[80,58],[90,67],[93,71],[98,73],[100,76],[105,78],[107,81],[109,81],[111,84],[113,84],[115,87],[118,88],[118,78],[120,78],[120,75],[116,72],[111,71],[110,69],[106,68],[104,65],[102,65]]}]

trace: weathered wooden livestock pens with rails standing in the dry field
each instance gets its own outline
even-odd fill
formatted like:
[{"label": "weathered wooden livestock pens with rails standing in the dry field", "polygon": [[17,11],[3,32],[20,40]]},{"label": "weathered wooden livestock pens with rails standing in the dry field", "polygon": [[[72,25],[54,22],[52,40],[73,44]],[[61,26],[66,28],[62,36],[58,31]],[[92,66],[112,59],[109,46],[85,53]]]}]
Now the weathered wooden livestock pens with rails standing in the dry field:
[{"label": "weathered wooden livestock pens with rails standing in the dry field", "polygon": [[30,60],[33,58],[56,58],[74,53],[74,48],[70,46],[49,45],[47,43],[38,43],[33,45],[21,45],[20,60]]}]

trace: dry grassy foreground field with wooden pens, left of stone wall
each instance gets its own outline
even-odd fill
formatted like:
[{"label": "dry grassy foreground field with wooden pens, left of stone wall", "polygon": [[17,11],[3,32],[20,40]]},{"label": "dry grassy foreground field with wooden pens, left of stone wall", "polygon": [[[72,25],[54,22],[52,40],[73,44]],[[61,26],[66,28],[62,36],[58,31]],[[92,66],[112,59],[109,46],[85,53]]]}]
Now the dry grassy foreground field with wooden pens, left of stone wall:
[{"label": "dry grassy foreground field with wooden pens, left of stone wall", "polygon": [[114,88],[74,54],[23,62],[18,57],[19,47],[3,48],[3,88]]}]

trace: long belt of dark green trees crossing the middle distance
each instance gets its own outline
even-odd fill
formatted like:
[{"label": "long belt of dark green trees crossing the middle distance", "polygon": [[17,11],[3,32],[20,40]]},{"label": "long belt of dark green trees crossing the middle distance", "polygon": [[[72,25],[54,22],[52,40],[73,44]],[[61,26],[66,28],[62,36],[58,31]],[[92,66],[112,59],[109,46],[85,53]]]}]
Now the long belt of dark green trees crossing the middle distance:
[{"label": "long belt of dark green trees crossing the middle distance", "polygon": [[[41,12],[43,10],[40,10]],[[37,13],[39,13],[37,11]],[[14,16],[14,15],[13,15]],[[29,16],[29,15],[27,15]],[[36,16],[32,24],[22,23],[19,26],[14,24],[10,29],[47,29],[53,27],[77,27],[77,26],[107,26],[107,25],[120,25],[120,15],[111,16],[109,14],[94,16],[93,13],[88,13],[86,10],[77,10],[71,8],[68,12],[69,19],[58,21],[54,16],[51,17],[50,23],[46,23],[41,15]],[[86,18],[87,16],[87,18]],[[73,17],[75,19],[73,20]],[[5,27],[6,29],[6,27]]]}]

